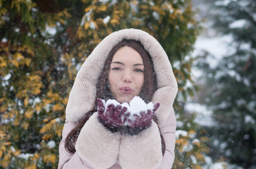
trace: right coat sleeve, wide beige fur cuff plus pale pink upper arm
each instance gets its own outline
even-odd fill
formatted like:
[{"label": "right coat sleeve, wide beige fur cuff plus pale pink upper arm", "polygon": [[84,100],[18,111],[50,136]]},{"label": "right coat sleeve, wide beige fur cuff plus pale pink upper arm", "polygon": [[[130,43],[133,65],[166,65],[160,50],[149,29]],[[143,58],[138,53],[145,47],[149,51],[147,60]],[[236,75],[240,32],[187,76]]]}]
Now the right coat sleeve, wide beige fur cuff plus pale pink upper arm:
[{"label": "right coat sleeve, wide beige fur cuff plus pale pink upper arm", "polygon": [[160,127],[165,140],[164,156],[161,152],[159,128],[155,122],[138,135],[122,135],[120,143],[120,166],[125,168],[170,169],[174,161],[176,118],[174,111]]}]

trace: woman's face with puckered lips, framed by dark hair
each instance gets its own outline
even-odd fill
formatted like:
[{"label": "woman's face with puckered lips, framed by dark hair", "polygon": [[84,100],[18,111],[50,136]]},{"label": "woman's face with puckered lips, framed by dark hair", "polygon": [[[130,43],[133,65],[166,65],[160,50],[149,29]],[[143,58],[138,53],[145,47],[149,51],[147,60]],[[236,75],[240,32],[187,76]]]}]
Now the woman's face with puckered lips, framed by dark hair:
[{"label": "woman's face with puckered lips, framed by dark hair", "polygon": [[144,65],[140,54],[132,47],[121,47],[114,54],[109,69],[110,91],[120,103],[130,103],[138,96],[144,83]]}]

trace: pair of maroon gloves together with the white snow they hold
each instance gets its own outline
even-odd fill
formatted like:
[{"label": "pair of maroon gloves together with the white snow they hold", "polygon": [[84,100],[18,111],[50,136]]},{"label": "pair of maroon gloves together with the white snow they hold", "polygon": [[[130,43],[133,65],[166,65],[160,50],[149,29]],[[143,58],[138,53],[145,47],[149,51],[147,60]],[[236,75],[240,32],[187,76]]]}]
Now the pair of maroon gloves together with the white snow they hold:
[{"label": "pair of maroon gloves together with the white snow they hold", "polygon": [[127,103],[120,104],[116,100],[97,99],[97,113],[99,121],[112,132],[121,131],[125,134],[136,135],[152,124],[156,110],[160,104],[144,103],[135,96]]}]

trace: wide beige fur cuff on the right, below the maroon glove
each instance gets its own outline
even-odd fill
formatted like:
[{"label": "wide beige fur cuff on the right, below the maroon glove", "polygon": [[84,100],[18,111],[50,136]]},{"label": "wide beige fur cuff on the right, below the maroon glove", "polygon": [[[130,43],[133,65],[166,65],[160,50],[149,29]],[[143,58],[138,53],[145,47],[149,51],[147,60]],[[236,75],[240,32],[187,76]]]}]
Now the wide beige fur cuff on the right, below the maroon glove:
[{"label": "wide beige fur cuff on the right, below the maroon glove", "polygon": [[138,135],[121,135],[119,161],[122,169],[157,168],[162,158],[161,137],[155,122]]}]

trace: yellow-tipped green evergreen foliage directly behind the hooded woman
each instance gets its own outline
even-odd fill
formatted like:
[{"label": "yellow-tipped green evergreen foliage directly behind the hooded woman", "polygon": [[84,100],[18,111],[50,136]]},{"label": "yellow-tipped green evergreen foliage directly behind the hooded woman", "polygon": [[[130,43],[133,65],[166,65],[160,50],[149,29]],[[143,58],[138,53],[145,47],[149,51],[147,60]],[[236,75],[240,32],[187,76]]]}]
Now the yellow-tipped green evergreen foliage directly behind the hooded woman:
[{"label": "yellow-tipped green evergreen foliage directly behind the hooded woman", "polygon": [[79,66],[106,35],[124,28],[153,35],[176,65],[182,95],[193,95],[196,87],[186,88],[193,81],[185,56],[199,26],[190,1],[0,0],[0,168],[57,167],[65,107]]}]

